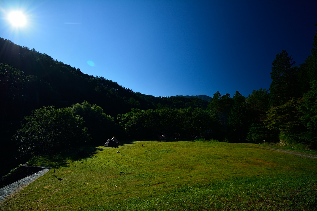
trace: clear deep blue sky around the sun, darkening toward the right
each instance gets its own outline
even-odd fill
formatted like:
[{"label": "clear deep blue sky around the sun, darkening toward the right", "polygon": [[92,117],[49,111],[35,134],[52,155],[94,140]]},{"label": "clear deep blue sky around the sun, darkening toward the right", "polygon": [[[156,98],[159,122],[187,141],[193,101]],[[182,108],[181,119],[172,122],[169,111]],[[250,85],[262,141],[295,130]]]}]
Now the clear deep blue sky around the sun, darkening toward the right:
[{"label": "clear deep blue sky around the sun, darkening toward the right", "polygon": [[[269,88],[285,49],[310,54],[317,1],[6,1],[0,37],[153,96]],[[26,16],[14,27],[11,11]]]}]

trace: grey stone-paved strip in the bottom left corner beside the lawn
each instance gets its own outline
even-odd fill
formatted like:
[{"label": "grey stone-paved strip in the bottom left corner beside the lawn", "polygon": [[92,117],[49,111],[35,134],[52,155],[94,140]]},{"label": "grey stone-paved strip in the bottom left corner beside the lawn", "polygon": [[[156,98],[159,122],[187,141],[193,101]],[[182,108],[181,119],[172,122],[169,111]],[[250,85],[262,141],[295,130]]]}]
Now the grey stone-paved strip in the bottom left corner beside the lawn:
[{"label": "grey stone-paved strip in the bottom left corner beside the lawn", "polygon": [[40,176],[43,176],[46,172],[48,172],[52,168],[44,168],[43,170],[36,172],[30,176],[24,177],[23,179],[13,182],[10,185],[7,185],[0,189],[0,203],[10,198],[10,195],[19,192],[24,187],[26,187],[29,183],[33,182]]}]

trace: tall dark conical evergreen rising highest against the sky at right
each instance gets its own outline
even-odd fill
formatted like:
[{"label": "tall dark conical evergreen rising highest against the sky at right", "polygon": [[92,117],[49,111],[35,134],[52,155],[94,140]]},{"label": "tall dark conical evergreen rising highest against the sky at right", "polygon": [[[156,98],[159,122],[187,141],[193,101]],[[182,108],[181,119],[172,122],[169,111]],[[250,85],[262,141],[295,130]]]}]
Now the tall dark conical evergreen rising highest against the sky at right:
[{"label": "tall dark conical evergreen rising highest against the sky at right", "polygon": [[286,103],[292,97],[299,97],[296,94],[297,77],[296,67],[292,56],[288,56],[286,50],[276,54],[272,62],[269,106],[278,106]]}]

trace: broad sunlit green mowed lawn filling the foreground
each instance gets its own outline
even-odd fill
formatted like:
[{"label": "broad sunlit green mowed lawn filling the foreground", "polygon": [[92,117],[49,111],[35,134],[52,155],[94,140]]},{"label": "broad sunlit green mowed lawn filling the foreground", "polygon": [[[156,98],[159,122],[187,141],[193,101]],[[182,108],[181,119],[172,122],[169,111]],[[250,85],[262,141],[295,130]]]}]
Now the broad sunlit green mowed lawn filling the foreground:
[{"label": "broad sunlit green mowed lawn filling the foreground", "polygon": [[56,169],[61,181],[50,170],[0,210],[317,209],[317,159],[208,141],[98,148]]}]

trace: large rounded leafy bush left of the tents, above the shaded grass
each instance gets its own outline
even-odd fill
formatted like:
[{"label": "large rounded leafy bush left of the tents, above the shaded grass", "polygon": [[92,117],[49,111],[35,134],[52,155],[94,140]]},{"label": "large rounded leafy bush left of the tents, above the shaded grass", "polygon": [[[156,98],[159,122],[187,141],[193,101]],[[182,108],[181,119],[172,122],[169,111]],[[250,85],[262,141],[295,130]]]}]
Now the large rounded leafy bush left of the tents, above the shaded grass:
[{"label": "large rounded leafy bush left of the tents, above the shaded grass", "polygon": [[27,123],[13,137],[23,156],[55,154],[90,139],[87,128],[82,126],[82,117],[76,116],[71,108],[42,107],[24,120]]}]

